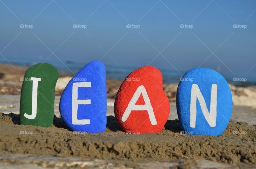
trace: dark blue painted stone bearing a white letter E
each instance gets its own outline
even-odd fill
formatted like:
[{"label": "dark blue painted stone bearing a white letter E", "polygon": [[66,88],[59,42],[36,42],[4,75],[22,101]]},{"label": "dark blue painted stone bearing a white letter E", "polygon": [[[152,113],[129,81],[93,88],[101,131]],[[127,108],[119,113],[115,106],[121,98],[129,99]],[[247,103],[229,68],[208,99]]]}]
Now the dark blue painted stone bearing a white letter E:
[{"label": "dark blue painted stone bearing a white letter E", "polygon": [[59,111],[73,131],[97,133],[107,125],[106,68],[101,61],[83,67],[64,89]]}]

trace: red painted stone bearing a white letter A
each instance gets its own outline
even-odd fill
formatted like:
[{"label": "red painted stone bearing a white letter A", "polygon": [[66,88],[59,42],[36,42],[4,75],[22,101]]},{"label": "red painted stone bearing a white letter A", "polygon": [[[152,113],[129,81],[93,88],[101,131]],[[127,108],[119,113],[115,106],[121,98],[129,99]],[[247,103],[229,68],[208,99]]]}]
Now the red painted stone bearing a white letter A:
[{"label": "red painted stone bearing a white letter A", "polygon": [[114,110],[115,119],[125,132],[161,131],[170,113],[161,72],[145,66],[130,73],[117,92]]}]

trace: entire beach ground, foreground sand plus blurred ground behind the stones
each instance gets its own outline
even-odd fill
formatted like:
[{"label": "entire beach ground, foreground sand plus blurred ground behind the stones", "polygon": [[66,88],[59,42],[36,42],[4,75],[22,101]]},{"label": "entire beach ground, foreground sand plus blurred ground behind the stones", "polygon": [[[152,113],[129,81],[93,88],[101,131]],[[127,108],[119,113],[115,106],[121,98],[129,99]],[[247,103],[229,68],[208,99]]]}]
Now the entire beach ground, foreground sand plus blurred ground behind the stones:
[{"label": "entire beach ground, foreground sand plus blurred ground behind the stones", "polygon": [[[108,80],[112,94],[107,99],[106,131],[78,133],[69,130],[59,116],[59,96],[53,126],[20,125],[19,78],[26,68],[15,68],[20,74],[10,65],[0,69],[5,70],[0,78],[0,168],[256,168],[254,87],[231,88],[238,100],[220,136],[180,133],[175,99],[170,100],[169,120],[160,133],[127,134],[113,116],[113,95],[122,81]],[[168,96],[177,84],[164,85]],[[60,95],[61,90],[56,93]]]}]

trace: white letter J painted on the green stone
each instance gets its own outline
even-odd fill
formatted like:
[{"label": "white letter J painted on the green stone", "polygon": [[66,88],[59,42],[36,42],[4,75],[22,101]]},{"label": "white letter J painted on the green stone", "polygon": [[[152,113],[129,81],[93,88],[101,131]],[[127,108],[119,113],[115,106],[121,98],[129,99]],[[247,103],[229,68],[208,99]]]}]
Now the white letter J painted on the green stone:
[{"label": "white letter J painted on the green stone", "polygon": [[27,113],[24,116],[28,119],[34,119],[37,116],[37,87],[38,81],[41,81],[41,78],[31,77],[32,83],[32,114],[28,115]]}]

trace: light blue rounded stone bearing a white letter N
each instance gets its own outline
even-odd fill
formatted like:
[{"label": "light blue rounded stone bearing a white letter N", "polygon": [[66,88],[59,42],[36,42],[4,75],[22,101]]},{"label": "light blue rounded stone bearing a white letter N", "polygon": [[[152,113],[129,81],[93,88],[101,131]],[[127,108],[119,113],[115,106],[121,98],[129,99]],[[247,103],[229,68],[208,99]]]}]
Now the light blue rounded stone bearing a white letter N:
[{"label": "light blue rounded stone bearing a white letter N", "polygon": [[195,68],[185,73],[177,88],[176,104],[185,134],[221,135],[232,113],[227,81],[209,68]]}]

